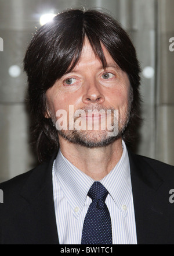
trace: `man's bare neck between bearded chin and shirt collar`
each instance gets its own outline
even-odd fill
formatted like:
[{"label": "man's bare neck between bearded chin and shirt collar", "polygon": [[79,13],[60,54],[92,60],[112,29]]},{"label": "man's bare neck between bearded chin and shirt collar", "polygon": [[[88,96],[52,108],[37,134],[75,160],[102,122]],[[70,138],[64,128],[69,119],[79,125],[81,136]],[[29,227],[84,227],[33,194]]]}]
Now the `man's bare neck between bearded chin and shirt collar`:
[{"label": "man's bare neck between bearded chin and shirt collar", "polygon": [[121,138],[101,148],[86,148],[59,136],[60,150],[66,159],[93,180],[102,180],[122,156]]}]

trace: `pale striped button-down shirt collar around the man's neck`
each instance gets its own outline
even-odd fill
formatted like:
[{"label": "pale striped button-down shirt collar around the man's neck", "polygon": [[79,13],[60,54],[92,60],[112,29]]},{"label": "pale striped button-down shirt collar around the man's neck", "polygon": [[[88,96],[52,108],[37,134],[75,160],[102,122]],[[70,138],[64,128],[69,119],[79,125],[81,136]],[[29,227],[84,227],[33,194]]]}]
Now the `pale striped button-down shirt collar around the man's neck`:
[{"label": "pale striped button-down shirt collar around the man's neck", "polygon": [[[121,159],[100,182],[106,187],[122,214],[126,215],[127,209],[125,211],[122,206],[128,206],[132,188],[129,157],[124,141],[122,141],[122,146]],[[54,169],[63,195],[71,206],[75,217],[78,218],[84,208],[88,191],[95,180],[70,163],[60,150],[55,160]],[[74,211],[76,207],[79,209],[78,212]]]}]

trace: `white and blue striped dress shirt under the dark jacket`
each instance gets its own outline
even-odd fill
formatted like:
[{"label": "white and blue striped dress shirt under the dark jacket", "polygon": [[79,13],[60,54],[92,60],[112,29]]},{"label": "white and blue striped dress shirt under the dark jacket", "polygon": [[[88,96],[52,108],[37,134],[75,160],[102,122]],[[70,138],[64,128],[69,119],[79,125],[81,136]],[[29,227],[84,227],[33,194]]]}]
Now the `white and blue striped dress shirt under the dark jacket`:
[{"label": "white and blue striped dress shirt under the dark jacket", "polygon": [[[124,141],[122,146],[121,159],[100,182],[109,192],[106,205],[111,216],[113,244],[136,244],[131,174]],[[92,202],[87,194],[93,182],[59,150],[53,164],[53,195],[60,244],[81,244],[85,215]]]}]

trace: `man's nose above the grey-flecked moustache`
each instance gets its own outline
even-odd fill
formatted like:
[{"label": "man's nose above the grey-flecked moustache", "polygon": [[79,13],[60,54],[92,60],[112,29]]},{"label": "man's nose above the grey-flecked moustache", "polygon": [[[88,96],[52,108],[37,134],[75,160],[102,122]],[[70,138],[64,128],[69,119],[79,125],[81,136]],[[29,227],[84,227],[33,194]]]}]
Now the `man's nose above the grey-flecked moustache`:
[{"label": "man's nose above the grey-flecked moustache", "polygon": [[89,83],[88,87],[86,86],[86,92],[82,98],[82,101],[86,104],[89,103],[98,103],[102,104],[104,102],[104,95],[95,83]]}]

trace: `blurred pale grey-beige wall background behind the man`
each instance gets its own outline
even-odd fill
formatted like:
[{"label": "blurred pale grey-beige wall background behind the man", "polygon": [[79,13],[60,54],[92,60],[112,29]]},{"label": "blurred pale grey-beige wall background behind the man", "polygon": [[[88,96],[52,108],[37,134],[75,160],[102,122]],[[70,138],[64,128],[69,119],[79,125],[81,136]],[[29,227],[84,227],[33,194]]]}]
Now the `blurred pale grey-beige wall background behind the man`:
[{"label": "blurred pale grey-beige wall background behind the man", "polygon": [[135,44],[142,65],[144,118],[136,153],[174,164],[173,0],[0,0],[0,181],[37,163],[29,143],[22,64],[32,34],[48,14],[82,6],[107,9]]}]

